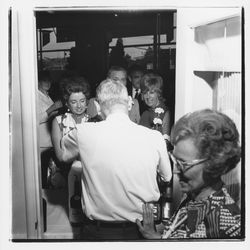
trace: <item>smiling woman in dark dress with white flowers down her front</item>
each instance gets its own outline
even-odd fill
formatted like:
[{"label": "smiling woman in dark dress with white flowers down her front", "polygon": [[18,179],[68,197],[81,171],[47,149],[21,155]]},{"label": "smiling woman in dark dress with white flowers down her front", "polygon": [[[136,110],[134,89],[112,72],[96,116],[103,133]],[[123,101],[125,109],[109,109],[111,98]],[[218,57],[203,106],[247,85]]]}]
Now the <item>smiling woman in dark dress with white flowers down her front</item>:
[{"label": "smiling woman in dark dress with white flowers down her front", "polygon": [[159,130],[169,141],[170,112],[162,97],[163,79],[155,73],[146,73],[141,80],[141,92],[147,105],[140,118],[140,125]]}]

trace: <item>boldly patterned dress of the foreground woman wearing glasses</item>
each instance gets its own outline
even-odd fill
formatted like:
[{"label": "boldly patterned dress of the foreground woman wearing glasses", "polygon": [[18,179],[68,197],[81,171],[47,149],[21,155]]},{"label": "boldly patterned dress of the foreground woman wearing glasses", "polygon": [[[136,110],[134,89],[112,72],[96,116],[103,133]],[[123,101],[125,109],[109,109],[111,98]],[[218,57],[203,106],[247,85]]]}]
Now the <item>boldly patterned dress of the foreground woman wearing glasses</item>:
[{"label": "boldly patterned dress of the foreground woman wearing glasses", "polygon": [[201,201],[193,201],[186,196],[162,235],[163,239],[240,237],[240,209],[225,187]]}]

